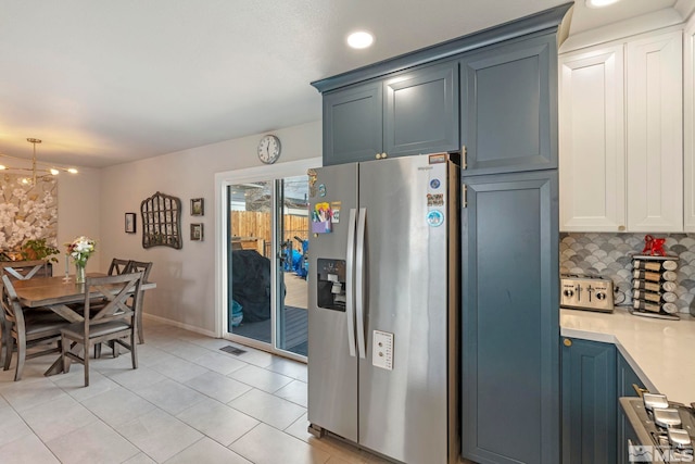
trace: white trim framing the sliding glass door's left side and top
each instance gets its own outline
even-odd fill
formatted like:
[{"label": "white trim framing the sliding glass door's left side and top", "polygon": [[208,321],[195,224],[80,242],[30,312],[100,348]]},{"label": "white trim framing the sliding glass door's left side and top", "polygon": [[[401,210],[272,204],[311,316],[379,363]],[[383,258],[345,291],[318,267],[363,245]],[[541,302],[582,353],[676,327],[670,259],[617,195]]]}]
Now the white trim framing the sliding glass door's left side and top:
[{"label": "white trim framing the sliding glass door's left side and top", "polygon": [[[233,184],[243,184],[257,180],[273,180],[278,178],[301,176],[312,167],[320,167],[323,160],[309,158],[306,160],[291,161],[287,163],[273,164],[270,166],[249,167],[245,170],[226,171],[215,173],[215,336],[224,338],[225,327],[228,322],[228,292],[227,292],[227,217],[228,198],[227,187]],[[273,288],[275,286],[275,273],[273,275]],[[253,346],[253,343],[250,343]],[[258,347],[255,347],[258,348]],[[276,350],[275,354],[287,355],[285,351]]]}]

